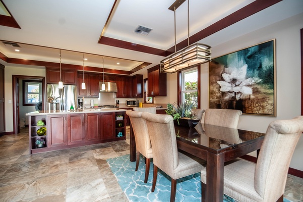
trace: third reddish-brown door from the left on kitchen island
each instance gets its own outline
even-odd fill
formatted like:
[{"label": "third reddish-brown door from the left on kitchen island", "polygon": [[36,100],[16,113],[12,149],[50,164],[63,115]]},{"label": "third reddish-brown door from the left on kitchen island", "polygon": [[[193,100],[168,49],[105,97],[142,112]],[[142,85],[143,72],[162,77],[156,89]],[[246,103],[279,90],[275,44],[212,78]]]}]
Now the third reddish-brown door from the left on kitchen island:
[{"label": "third reddish-brown door from the left on kitchen island", "polygon": [[101,140],[101,114],[87,113],[85,117],[85,142]]}]

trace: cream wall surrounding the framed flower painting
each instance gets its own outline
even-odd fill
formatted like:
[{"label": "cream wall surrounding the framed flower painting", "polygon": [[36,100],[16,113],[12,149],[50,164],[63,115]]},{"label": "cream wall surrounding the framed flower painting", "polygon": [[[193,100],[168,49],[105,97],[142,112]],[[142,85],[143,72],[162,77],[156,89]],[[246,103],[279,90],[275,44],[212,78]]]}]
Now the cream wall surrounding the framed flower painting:
[{"label": "cream wall surrounding the framed flower painting", "polygon": [[[276,93],[277,116],[242,115],[238,128],[266,132],[270,122],[292,119],[301,111],[300,29],[303,14],[212,47],[212,57],[218,57],[273,38],[276,39]],[[209,108],[209,67],[204,64],[201,73],[201,108]],[[303,135],[295,148],[290,167],[303,171]]]}]

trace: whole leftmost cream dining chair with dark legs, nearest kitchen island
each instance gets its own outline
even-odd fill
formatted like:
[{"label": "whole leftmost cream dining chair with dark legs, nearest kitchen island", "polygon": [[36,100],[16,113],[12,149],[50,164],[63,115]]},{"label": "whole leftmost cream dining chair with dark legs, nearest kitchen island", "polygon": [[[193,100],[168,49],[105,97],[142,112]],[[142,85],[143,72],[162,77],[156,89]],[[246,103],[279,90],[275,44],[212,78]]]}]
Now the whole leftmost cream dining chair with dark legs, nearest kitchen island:
[{"label": "whole leftmost cream dining chair with dark legs, nearest kitchen island", "polygon": [[130,117],[136,141],[136,171],[138,171],[140,154],[142,154],[146,160],[144,183],[147,183],[150,168],[150,159],[153,158],[153,151],[147,126],[145,120],[141,117],[142,112],[134,112],[132,110],[128,110],[126,111],[126,114]]}]

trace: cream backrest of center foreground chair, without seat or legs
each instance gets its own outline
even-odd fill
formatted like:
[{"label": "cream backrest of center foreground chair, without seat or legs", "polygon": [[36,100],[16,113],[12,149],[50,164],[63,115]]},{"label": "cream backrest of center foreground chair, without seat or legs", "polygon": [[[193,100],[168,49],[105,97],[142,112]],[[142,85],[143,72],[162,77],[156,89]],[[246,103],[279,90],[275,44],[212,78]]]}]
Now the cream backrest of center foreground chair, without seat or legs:
[{"label": "cream backrest of center foreground chair, without seat or legs", "polygon": [[173,124],[170,115],[151,114],[144,112],[151,144],[153,146],[153,163],[169,176],[174,176],[173,170],[178,165],[178,149]]}]

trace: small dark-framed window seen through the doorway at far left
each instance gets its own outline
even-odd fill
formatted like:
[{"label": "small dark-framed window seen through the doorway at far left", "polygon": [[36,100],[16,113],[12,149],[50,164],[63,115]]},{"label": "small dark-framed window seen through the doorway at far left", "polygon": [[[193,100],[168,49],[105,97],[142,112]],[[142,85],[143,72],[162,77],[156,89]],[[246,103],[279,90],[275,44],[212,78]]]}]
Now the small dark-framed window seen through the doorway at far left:
[{"label": "small dark-framed window seen through the doorway at far left", "polygon": [[42,101],[42,82],[23,80],[23,106],[36,106]]}]

